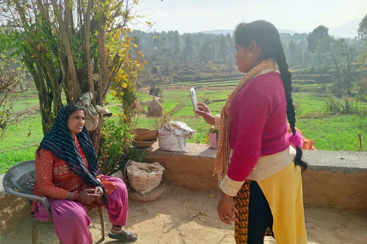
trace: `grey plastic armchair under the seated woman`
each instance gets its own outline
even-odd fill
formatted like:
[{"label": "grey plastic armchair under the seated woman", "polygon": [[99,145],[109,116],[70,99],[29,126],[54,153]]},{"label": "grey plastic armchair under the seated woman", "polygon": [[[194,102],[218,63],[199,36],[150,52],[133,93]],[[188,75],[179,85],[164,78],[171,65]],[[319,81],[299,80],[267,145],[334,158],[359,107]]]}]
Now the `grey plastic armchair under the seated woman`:
[{"label": "grey plastic armchair under the seated woman", "polygon": [[[48,214],[52,219],[51,208],[47,198],[43,196],[33,195],[34,181],[36,181],[36,165],[34,160],[30,160],[12,166],[4,175],[3,186],[5,191],[10,195],[28,199],[31,206],[33,200],[43,203],[43,205],[46,207]],[[15,189],[17,189],[18,191],[15,191]],[[101,220],[102,240],[104,240],[105,222],[103,219],[103,211],[101,207],[98,208],[98,212],[99,212],[99,218]],[[39,224],[54,224],[54,222],[52,220],[39,221],[36,218],[34,218],[33,236],[32,236],[33,244],[37,244],[38,241]]]}]

